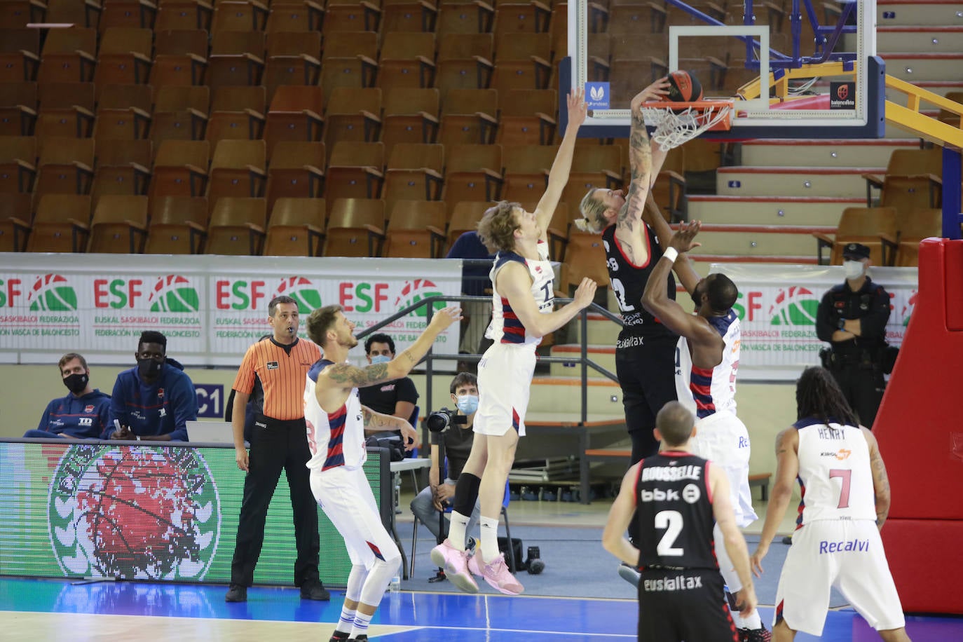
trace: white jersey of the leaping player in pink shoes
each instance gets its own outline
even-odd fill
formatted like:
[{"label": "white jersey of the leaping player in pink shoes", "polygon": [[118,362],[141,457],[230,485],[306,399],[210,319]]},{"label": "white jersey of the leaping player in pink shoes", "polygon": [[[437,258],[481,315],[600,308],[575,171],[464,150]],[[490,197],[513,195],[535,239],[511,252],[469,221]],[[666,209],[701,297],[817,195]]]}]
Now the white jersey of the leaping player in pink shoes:
[{"label": "white jersey of the leaping player in pink shoes", "polygon": [[508,297],[498,294],[495,287],[495,276],[510,262],[521,263],[529,270],[532,276],[532,296],[538,312],[545,314],[552,312],[555,303],[555,271],[548,260],[548,244],[544,241],[538,242],[538,260],[531,261],[516,254],[515,252],[499,252],[495,256],[495,263],[491,268],[490,278],[492,282],[492,310],[491,323],[485,331],[485,337],[492,341],[502,344],[533,344],[537,346],[541,343],[540,337],[529,334],[519,321],[515,311],[508,303]]}]

